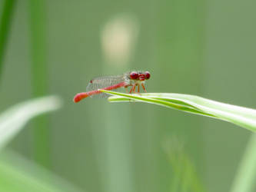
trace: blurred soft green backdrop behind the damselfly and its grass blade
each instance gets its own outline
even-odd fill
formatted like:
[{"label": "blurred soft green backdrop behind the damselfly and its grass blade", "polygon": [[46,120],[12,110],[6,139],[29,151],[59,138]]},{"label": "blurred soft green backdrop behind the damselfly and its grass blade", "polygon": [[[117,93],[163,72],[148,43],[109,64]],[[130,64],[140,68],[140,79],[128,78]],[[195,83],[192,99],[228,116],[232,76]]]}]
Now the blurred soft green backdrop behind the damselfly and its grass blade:
[{"label": "blurred soft green backdrop behind the damselfly and its grass blade", "polygon": [[177,151],[200,191],[230,189],[249,131],[150,104],[72,98],[91,78],[138,69],[151,72],[148,92],[256,108],[255,1],[1,0],[1,15],[10,2],[1,111],[48,94],[64,106],[27,124],[8,149],[81,191],[197,191],[180,176],[182,160],[171,160]]}]

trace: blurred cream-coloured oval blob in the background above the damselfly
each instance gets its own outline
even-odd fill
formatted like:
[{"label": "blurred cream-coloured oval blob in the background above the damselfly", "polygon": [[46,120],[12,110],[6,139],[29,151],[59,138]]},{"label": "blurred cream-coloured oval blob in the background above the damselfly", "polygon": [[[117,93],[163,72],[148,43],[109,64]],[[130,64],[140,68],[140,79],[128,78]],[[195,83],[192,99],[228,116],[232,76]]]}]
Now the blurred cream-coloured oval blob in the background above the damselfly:
[{"label": "blurred cream-coloured oval blob in the background above the damselfly", "polygon": [[138,36],[138,22],[133,15],[117,15],[101,31],[101,45],[109,65],[126,65]]}]

